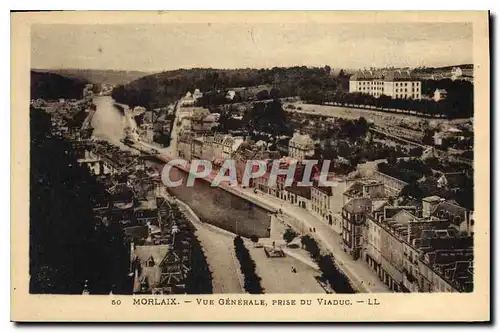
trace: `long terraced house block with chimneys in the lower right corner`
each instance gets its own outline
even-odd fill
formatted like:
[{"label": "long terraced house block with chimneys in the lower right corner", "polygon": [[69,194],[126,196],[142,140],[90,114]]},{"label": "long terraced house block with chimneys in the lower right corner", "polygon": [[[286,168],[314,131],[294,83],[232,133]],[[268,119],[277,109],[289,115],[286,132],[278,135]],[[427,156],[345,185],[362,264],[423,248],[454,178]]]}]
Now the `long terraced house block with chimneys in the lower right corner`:
[{"label": "long terraced house block with chimneys in the lower right corner", "polygon": [[438,202],[428,197],[421,211],[383,206],[366,215],[361,258],[393,291],[472,291],[472,236]]}]

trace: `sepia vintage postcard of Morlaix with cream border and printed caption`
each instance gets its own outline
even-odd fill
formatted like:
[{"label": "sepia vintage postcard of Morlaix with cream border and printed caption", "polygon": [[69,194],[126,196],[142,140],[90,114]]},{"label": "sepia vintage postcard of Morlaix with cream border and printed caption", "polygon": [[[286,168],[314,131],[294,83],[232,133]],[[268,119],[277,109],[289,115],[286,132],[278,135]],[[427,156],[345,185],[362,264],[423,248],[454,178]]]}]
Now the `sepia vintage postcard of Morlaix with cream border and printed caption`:
[{"label": "sepia vintage postcard of Morlaix with cream border and printed caption", "polygon": [[12,320],[490,320],[488,12],[11,20]]}]

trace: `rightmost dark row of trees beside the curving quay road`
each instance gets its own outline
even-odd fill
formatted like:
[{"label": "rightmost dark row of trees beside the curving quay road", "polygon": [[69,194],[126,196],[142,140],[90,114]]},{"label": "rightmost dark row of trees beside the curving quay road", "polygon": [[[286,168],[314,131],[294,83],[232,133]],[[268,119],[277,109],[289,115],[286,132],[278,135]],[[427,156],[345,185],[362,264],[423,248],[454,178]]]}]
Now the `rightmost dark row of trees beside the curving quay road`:
[{"label": "rightmost dark row of trees beside the curving quay road", "polygon": [[318,264],[321,271],[321,277],[330,284],[330,287],[332,287],[336,293],[356,293],[349,279],[336,266],[335,259],[332,255],[322,255],[318,244],[309,235],[303,236],[300,241],[302,247],[309,252],[311,258]]}]

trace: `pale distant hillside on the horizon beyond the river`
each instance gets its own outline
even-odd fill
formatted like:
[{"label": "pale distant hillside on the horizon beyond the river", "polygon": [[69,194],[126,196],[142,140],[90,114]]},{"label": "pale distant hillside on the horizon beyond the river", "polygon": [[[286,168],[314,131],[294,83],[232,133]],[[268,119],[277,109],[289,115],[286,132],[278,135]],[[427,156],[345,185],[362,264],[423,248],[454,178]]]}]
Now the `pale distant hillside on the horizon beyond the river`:
[{"label": "pale distant hillside on the horizon beyond the river", "polygon": [[150,72],[127,70],[97,70],[97,69],[33,69],[33,71],[51,72],[58,75],[84,80],[93,84],[127,84],[140,77],[151,75]]}]

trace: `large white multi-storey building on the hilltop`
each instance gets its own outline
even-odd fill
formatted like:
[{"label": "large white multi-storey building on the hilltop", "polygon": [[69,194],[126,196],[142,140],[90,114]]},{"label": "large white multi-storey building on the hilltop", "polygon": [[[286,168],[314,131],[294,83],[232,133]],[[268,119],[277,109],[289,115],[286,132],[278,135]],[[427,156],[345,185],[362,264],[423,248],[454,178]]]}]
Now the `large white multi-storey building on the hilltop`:
[{"label": "large white multi-storey building on the hilltop", "polygon": [[349,80],[349,92],[380,97],[421,99],[422,85],[408,70],[360,70]]}]

